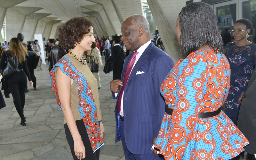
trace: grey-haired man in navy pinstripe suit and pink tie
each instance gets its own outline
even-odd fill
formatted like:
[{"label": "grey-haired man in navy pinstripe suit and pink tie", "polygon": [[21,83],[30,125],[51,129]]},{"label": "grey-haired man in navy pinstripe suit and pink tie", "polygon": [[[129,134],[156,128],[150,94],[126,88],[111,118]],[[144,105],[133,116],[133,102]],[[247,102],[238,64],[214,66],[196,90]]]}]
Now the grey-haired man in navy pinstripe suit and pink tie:
[{"label": "grey-haired man in navy pinstripe suit and pink tie", "polygon": [[123,43],[135,51],[126,57],[121,80],[112,80],[116,102],[116,142],[122,140],[126,160],[161,159],[151,151],[164,115],[161,84],[173,60],[150,40],[145,17],[132,15],[122,24]]}]

